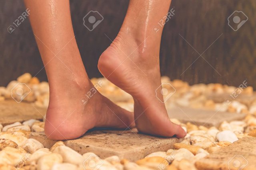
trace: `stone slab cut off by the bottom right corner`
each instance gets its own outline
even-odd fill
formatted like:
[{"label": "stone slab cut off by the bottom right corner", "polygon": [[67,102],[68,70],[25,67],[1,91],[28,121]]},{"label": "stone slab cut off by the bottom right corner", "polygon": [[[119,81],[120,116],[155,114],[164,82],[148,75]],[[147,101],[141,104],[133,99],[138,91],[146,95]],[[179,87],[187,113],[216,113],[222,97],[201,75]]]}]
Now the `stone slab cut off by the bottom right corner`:
[{"label": "stone slab cut off by the bottom right corner", "polygon": [[198,170],[255,170],[256,137],[244,137],[196,162]]}]

